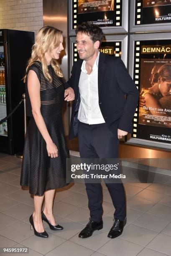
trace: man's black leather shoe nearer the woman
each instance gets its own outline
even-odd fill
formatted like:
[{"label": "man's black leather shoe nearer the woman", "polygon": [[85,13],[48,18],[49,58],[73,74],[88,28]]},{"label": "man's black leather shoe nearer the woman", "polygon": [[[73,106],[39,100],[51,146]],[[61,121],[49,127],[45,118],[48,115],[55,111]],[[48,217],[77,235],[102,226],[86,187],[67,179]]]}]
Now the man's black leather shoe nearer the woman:
[{"label": "man's black leather shoe nearer the woman", "polygon": [[92,236],[94,230],[100,230],[103,228],[103,221],[95,222],[89,218],[87,226],[79,233],[79,238],[87,238]]}]

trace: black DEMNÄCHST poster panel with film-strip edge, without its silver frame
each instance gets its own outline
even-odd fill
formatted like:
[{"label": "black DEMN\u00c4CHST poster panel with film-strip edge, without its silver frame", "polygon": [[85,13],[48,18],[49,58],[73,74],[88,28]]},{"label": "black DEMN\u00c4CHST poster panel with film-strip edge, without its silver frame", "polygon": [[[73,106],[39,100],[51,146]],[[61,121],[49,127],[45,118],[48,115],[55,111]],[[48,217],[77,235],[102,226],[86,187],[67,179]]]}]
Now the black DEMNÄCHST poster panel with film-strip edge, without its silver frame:
[{"label": "black DEMN\u00c4CHST poster panel with film-strip edge, without its silver frame", "polygon": [[170,41],[140,41],[135,49],[139,52],[135,54],[134,79],[145,100],[144,106],[139,101],[137,138],[171,143]]}]

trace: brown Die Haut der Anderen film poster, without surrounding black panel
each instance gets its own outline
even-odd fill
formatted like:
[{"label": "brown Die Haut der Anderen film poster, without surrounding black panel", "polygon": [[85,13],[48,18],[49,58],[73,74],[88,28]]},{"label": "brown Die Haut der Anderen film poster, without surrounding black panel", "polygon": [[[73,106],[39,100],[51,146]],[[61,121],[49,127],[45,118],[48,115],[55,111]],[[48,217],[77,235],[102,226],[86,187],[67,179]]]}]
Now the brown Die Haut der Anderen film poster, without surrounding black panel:
[{"label": "brown Die Haut der Anderen film poster, without surrounding black panel", "polygon": [[171,77],[171,59],[141,59],[140,92],[146,104],[139,108],[139,123],[171,128],[171,81],[158,78],[158,71]]}]

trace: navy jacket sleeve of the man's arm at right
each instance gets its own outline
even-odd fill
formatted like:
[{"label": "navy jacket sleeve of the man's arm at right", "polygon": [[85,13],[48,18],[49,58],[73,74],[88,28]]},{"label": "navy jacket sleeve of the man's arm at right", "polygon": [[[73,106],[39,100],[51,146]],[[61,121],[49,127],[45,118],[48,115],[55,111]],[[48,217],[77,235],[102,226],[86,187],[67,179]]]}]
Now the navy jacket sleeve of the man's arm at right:
[{"label": "navy jacket sleeve of the man's arm at right", "polygon": [[138,104],[139,92],[121,59],[117,60],[115,67],[117,83],[119,84],[123,93],[127,95],[125,108],[123,115],[120,118],[118,129],[122,131],[129,131],[135,109]]}]

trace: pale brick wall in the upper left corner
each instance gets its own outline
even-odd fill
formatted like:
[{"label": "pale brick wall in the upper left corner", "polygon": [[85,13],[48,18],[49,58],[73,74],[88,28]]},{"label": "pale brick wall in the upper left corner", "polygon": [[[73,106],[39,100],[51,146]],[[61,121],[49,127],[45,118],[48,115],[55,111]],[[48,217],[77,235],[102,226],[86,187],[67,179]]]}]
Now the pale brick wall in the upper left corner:
[{"label": "pale brick wall in the upper left corner", "polygon": [[0,28],[33,31],[43,26],[43,0],[0,0]]}]

